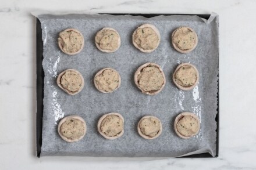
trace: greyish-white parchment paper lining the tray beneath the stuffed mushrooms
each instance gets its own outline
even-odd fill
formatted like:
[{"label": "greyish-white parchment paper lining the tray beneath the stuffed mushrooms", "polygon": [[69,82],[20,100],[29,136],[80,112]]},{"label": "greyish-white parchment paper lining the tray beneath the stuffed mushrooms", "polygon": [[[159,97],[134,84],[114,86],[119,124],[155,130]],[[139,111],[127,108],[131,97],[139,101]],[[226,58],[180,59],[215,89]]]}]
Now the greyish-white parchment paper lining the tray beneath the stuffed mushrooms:
[{"label": "greyish-white parchment paper lining the tray beneath the stuffed mushrooms", "polygon": [[[37,15],[42,24],[44,43],[44,114],[41,155],[81,155],[92,157],[178,157],[196,153],[216,155],[216,121],[218,93],[219,33],[218,15],[209,20],[198,16],[112,15]],[[161,32],[161,43],[152,53],[143,53],[131,42],[133,31],[141,24],[154,24]],[[180,26],[197,32],[198,45],[192,52],[177,52],[170,35]],[[121,43],[115,53],[100,52],[94,42],[103,27],[118,30]],[[77,28],[85,39],[84,49],[77,55],[61,52],[57,44],[60,31]],[[154,62],[165,73],[166,85],[158,95],[141,93],[134,84],[139,66]],[[182,91],[173,84],[172,73],[178,64],[194,64],[200,81],[192,91]],[[93,84],[94,75],[105,67],[119,71],[122,84],[113,93],[101,93]],[[83,74],[85,86],[79,94],[70,96],[56,85],[56,77],[67,68]],[[200,133],[191,139],[179,138],[174,129],[175,117],[191,111],[200,117]],[[101,115],[118,112],[125,118],[125,133],[121,138],[107,140],[97,132]],[[86,136],[76,143],[67,143],[57,132],[59,120],[67,115],[80,115],[87,123]],[[144,115],[155,115],[163,125],[162,134],[145,140],[137,133],[137,123]]]}]

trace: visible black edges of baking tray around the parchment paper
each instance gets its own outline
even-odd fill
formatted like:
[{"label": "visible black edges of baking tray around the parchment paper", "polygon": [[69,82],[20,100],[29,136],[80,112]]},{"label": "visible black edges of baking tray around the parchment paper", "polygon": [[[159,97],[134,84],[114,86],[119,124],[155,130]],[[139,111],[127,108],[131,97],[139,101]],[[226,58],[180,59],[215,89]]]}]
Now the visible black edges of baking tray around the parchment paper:
[{"label": "visible black edges of baking tray around the parchment paper", "polygon": [[[103,13],[101,13],[103,14]],[[159,15],[177,15],[177,14],[139,14],[139,13],[107,13],[109,15],[131,15],[131,16],[144,16],[147,18],[150,17],[155,17]],[[188,14],[179,14],[179,15],[188,15]],[[194,15],[194,14],[193,14]],[[209,19],[210,15],[197,15],[201,18],[204,19]],[[42,146],[42,116],[43,116],[43,99],[44,99],[44,70],[42,68],[42,59],[43,59],[43,44],[42,44],[42,29],[41,29],[41,23],[40,20],[36,19],[36,71],[37,71],[37,107],[36,107],[36,155],[37,157],[40,157],[41,154],[41,146]],[[218,67],[219,68],[219,67]],[[219,81],[218,81],[219,84]],[[217,123],[217,128],[216,128],[216,155],[214,157],[218,157],[219,155],[219,89],[218,89],[218,108],[217,108],[217,114],[216,114],[216,123]],[[209,153],[202,153],[202,154],[193,154],[193,155],[188,155],[180,158],[206,158],[206,157],[212,157],[211,154]]]}]

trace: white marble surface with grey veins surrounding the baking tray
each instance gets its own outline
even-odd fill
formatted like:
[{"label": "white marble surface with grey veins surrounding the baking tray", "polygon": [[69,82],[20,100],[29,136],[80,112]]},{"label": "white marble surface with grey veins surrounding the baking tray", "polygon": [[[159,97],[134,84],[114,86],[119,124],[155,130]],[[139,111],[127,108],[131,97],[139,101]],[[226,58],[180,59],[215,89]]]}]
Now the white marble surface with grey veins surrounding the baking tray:
[{"label": "white marble surface with grey veins surrounding the baking tray", "polygon": [[[256,169],[256,1],[1,1],[0,169]],[[35,157],[32,10],[211,13],[220,20],[219,158]]]}]

